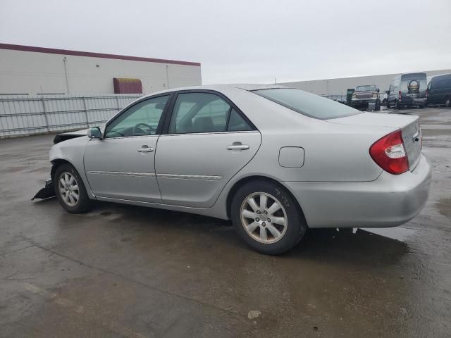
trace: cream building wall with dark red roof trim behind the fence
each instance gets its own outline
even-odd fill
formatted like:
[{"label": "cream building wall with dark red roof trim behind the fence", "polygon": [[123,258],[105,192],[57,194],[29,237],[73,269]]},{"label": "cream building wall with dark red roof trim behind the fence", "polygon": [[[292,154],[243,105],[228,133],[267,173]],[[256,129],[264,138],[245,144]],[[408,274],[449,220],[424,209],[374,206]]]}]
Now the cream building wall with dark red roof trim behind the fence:
[{"label": "cream building wall with dark red roof trim behind the fence", "polygon": [[113,77],[140,79],[143,94],[202,84],[200,64],[0,49],[0,94],[112,94]]}]

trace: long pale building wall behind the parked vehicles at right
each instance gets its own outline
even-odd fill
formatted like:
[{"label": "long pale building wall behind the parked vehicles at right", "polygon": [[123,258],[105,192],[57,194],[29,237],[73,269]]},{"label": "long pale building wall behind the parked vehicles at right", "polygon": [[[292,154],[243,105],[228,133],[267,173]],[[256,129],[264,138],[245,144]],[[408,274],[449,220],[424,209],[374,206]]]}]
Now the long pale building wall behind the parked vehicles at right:
[{"label": "long pale building wall behind the parked vehicles at right", "polygon": [[[421,73],[422,72],[426,73],[428,77],[432,77],[433,75],[451,73],[451,69],[426,70],[421,71]],[[376,86],[381,89],[381,92],[384,92],[390,87],[390,83],[396,75],[399,74],[343,77],[338,79],[284,82],[279,84],[319,95],[345,95],[348,88],[355,88],[362,84],[376,84]]]}]

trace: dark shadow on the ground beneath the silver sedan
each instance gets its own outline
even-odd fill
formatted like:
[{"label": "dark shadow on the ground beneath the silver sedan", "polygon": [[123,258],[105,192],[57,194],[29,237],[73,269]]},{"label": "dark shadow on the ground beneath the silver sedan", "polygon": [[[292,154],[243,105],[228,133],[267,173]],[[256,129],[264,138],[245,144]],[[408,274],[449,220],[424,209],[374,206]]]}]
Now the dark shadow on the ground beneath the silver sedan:
[{"label": "dark shadow on the ground beneath the silver sedan", "polygon": [[[238,237],[230,220],[220,220],[202,215],[168,211],[140,206],[98,203],[89,213],[92,216],[113,220],[121,220],[121,229],[128,227],[138,228],[142,231],[162,232],[161,234],[173,237],[178,241],[176,234],[183,231],[184,236],[192,237],[195,242],[202,238],[205,243],[198,243],[197,249],[205,251],[211,247],[221,246],[222,252],[231,250],[246,252],[252,251]],[[371,232],[371,230],[357,229],[354,232],[339,232],[335,229],[308,230],[297,246],[291,251],[280,255],[285,258],[303,258],[326,261],[346,261],[358,264],[392,264],[409,252],[406,242],[390,238],[390,232],[402,231],[396,227],[385,229],[387,235]],[[379,230],[379,232],[381,232]],[[199,234],[202,236],[199,237]],[[204,248],[204,249],[202,249]],[[197,252],[202,254],[202,252]]]}]

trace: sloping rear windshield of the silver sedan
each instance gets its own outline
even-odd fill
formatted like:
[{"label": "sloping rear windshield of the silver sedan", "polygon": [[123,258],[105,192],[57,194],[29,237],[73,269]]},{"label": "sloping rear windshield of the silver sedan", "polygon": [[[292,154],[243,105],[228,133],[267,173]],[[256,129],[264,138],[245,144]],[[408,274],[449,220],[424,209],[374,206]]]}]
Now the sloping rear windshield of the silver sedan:
[{"label": "sloping rear windshield of the silver sedan", "polygon": [[294,88],[260,89],[253,92],[292,111],[319,120],[342,118],[360,113],[357,109],[345,104]]}]

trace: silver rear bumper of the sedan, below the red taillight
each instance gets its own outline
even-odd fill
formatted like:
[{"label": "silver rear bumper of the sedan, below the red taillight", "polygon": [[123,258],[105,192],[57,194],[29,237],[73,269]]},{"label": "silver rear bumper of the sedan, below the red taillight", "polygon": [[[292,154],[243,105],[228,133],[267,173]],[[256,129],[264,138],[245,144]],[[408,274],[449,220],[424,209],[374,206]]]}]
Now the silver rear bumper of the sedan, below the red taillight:
[{"label": "silver rear bumper of the sedan, below the red taillight", "polygon": [[295,195],[307,224],[317,227],[395,227],[424,207],[431,164],[421,154],[412,172],[385,171],[372,182],[283,182]]}]

